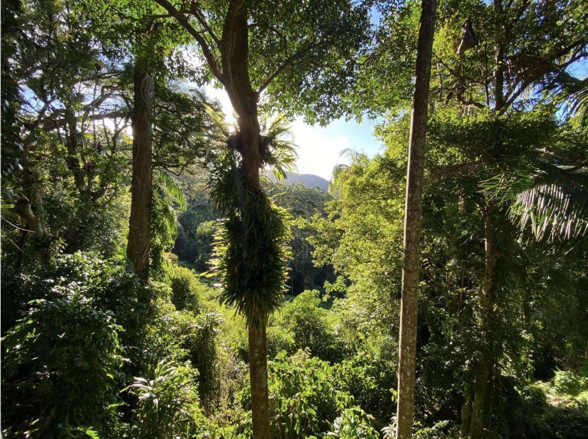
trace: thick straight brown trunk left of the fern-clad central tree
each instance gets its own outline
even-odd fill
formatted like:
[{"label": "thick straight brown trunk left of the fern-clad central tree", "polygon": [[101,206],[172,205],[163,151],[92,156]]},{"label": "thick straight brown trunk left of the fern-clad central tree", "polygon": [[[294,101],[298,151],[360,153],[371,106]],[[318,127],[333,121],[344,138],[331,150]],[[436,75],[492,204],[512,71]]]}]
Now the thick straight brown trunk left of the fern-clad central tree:
[{"label": "thick straight brown trunk left of the fern-clad central tree", "polygon": [[149,278],[149,244],[151,241],[152,142],[151,110],[153,75],[144,62],[135,63],[133,96],[133,176],[131,187],[131,218],[126,256],[135,273]]}]

